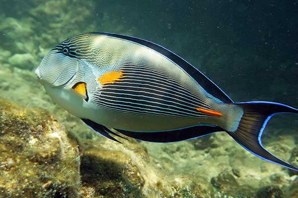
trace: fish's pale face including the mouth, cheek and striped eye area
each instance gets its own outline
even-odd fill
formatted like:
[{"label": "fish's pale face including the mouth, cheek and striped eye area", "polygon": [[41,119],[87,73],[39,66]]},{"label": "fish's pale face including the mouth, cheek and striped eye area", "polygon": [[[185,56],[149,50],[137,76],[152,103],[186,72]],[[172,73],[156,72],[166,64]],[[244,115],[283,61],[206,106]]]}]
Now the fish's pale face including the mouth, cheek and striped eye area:
[{"label": "fish's pale face including the mouth, cheek and striped eye area", "polygon": [[65,87],[74,80],[79,59],[71,54],[71,50],[71,47],[61,43],[43,57],[35,70],[41,84]]}]

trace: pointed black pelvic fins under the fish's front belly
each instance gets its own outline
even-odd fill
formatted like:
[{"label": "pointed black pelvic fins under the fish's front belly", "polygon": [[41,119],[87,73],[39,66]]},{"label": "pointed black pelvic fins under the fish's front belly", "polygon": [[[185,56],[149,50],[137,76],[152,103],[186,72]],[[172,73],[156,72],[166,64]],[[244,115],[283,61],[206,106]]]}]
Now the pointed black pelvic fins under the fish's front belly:
[{"label": "pointed black pelvic fins under the fish's front belly", "polygon": [[[109,133],[119,137],[119,138],[123,138],[125,140],[128,140],[114,132],[112,132],[110,129],[108,129],[107,127],[103,126],[103,125],[100,125],[100,124],[97,124],[96,122],[93,122],[89,119],[83,119],[81,118],[81,120],[86,124],[88,125],[93,131],[95,131],[96,133],[99,133],[100,135],[104,136],[105,138],[107,139],[110,139],[110,140],[113,140],[115,142],[118,142],[118,143],[121,143],[119,142],[117,139],[115,139],[113,136],[111,136]],[[122,144],[122,143],[121,143]]]}]

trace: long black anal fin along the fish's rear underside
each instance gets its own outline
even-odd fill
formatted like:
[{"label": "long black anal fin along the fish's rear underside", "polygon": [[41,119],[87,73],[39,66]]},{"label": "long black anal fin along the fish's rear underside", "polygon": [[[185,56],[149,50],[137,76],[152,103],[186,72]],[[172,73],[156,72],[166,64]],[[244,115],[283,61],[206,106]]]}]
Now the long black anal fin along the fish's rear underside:
[{"label": "long black anal fin along the fish's rear underside", "polygon": [[224,131],[218,126],[194,126],[185,129],[160,132],[132,132],[121,129],[115,130],[131,138],[155,143],[179,142],[193,138],[199,138],[219,131]]}]

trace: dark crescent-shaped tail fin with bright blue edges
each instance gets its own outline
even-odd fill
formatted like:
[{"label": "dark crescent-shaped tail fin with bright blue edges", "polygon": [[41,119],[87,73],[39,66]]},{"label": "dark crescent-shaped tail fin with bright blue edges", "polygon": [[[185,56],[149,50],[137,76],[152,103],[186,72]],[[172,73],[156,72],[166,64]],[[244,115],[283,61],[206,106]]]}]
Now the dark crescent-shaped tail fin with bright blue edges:
[{"label": "dark crescent-shaped tail fin with bright blue edges", "polygon": [[262,133],[269,119],[277,113],[298,113],[298,109],[275,102],[233,103],[240,106],[244,113],[235,132],[227,133],[242,147],[256,156],[298,171],[295,167],[271,154],[262,146]]}]

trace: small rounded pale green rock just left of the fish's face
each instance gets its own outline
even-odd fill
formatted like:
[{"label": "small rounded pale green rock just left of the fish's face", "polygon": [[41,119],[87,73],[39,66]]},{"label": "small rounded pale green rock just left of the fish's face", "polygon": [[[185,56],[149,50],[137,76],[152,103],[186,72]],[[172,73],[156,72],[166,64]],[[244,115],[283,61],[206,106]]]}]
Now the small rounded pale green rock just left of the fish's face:
[{"label": "small rounded pale green rock just left of the fish's face", "polygon": [[30,53],[16,53],[8,58],[8,63],[13,67],[21,69],[33,69],[35,67],[34,57]]}]

